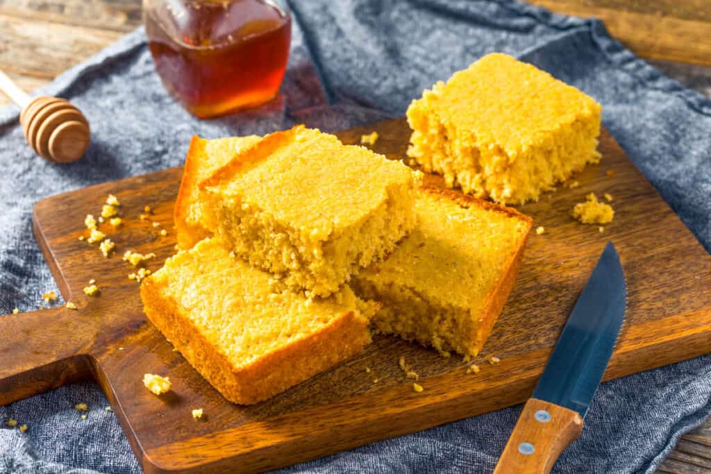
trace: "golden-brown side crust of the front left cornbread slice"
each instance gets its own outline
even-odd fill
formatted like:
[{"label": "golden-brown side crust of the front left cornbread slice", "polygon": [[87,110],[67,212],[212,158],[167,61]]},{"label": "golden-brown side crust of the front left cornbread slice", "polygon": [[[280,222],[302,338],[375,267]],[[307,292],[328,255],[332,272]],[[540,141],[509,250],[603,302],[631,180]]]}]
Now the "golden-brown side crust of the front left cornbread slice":
[{"label": "golden-brown side crust of the front left cornbread slice", "polygon": [[233,367],[223,352],[181,316],[172,298],[161,295],[151,277],[141,284],[149,321],[230,402],[254,404],[323,372],[370,343],[368,319],[348,312],[317,333],[270,352],[245,367]]}]

